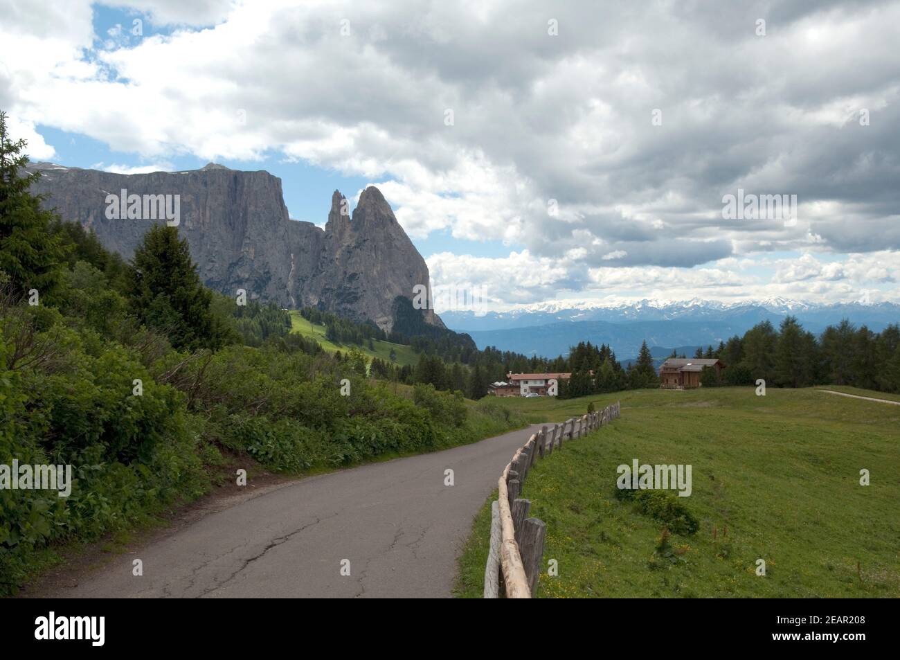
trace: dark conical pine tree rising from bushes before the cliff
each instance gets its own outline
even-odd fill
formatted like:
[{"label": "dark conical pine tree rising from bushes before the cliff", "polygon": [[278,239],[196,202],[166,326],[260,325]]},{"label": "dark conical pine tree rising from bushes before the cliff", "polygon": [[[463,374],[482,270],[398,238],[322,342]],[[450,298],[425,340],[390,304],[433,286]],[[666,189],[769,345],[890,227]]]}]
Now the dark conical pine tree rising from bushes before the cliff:
[{"label": "dark conical pine tree rising from bushes before the cliff", "polygon": [[164,332],[175,348],[216,349],[234,341],[211,311],[212,294],[202,285],[187,240],[175,227],[155,225],[134,250],[126,276],[130,311],[149,328]]}]

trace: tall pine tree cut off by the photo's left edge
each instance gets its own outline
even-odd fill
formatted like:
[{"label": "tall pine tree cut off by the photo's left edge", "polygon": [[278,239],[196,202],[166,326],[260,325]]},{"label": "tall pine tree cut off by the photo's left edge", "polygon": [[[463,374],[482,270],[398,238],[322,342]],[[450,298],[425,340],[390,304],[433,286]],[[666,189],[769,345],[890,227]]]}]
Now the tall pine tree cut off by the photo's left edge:
[{"label": "tall pine tree cut off by the photo's left edge", "polygon": [[37,290],[52,300],[63,274],[66,249],[51,234],[56,220],[40,208],[40,196],[29,192],[40,174],[22,176],[28,164],[25,140],[10,140],[6,113],[0,112],[0,271],[9,276],[15,298]]}]

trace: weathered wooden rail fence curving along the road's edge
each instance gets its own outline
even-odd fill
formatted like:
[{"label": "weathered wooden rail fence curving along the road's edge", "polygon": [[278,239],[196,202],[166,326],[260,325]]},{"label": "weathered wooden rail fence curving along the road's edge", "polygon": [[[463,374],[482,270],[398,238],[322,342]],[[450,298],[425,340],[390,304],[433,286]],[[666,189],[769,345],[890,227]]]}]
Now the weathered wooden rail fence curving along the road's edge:
[{"label": "weathered wooden rail fence curving along the road's edge", "polygon": [[528,438],[503,469],[497,502],[491,503],[491,552],[484,568],[484,597],[531,598],[544,562],[546,526],[528,518],[531,502],[518,497],[528,470],[564,442],[581,438],[619,416],[619,402],[602,411],[573,417],[552,429],[545,426]]}]

